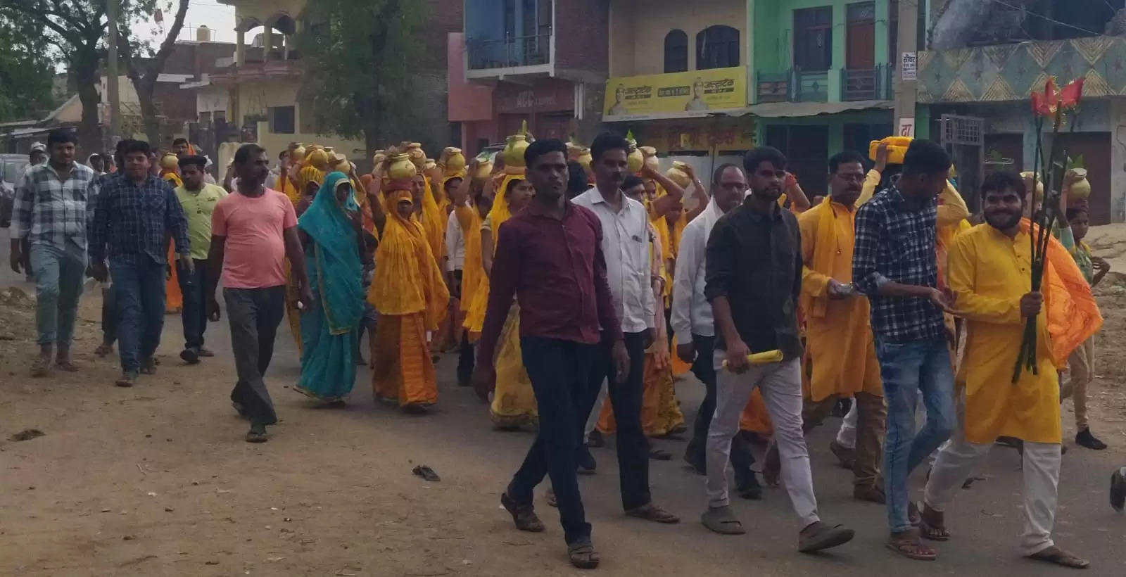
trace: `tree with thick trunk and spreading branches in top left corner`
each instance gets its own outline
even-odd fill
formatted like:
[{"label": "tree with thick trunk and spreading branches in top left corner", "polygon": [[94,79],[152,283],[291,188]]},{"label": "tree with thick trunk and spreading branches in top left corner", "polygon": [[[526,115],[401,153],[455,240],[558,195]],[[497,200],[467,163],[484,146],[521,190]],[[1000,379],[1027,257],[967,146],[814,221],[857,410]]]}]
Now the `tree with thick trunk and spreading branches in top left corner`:
[{"label": "tree with thick trunk and spreading branches in top left corner", "polygon": [[100,43],[107,24],[106,0],[3,0],[0,18],[19,23],[25,27],[23,30],[42,30],[43,41],[59,50],[82,103],[79,142],[87,150],[99,150],[98,104],[101,98],[98,85],[101,80]]}]

